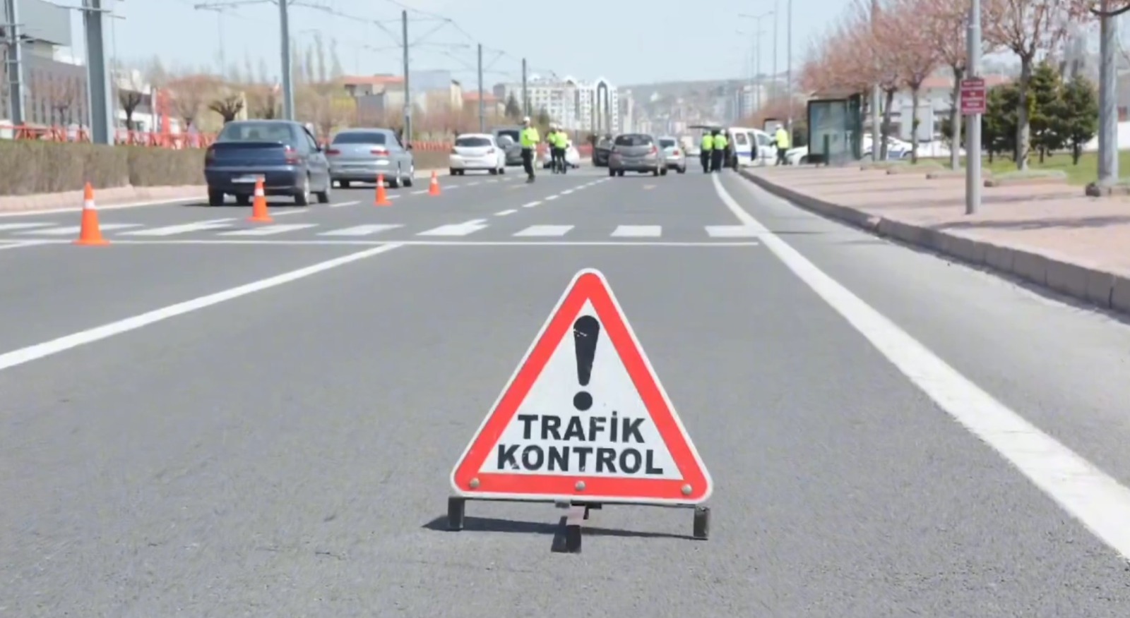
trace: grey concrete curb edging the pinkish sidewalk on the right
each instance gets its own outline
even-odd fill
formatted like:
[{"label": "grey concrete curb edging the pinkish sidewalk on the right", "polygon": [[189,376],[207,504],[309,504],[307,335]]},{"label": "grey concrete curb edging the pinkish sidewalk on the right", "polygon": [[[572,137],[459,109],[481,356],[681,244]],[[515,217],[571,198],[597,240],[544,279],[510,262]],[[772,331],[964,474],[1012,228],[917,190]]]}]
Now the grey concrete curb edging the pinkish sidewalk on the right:
[{"label": "grey concrete curb edging the pinkish sidewalk on the right", "polygon": [[929,227],[885,219],[850,206],[833,204],[774,184],[746,170],[739,174],[763,189],[822,217],[842,221],[875,236],[899,240],[1015,276],[1080,302],[1130,315],[1130,277],[1066,256],[1006,247]]}]

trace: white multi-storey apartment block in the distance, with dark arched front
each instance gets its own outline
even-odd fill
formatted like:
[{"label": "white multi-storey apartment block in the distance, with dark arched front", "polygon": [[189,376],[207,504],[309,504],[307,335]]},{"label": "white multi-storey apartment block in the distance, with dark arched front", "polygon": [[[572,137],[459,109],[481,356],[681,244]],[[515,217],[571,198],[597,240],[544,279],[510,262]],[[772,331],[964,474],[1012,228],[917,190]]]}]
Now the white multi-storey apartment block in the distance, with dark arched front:
[{"label": "white multi-storey apartment block in the distance, with dark arched front", "polygon": [[[585,82],[568,76],[559,80],[531,76],[527,91],[531,115],[545,109],[554,123],[568,131],[618,133],[623,126],[619,94],[605,78]],[[494,95],[504,104],[513,96],[521,105],[522,85],[496,85]]]}]

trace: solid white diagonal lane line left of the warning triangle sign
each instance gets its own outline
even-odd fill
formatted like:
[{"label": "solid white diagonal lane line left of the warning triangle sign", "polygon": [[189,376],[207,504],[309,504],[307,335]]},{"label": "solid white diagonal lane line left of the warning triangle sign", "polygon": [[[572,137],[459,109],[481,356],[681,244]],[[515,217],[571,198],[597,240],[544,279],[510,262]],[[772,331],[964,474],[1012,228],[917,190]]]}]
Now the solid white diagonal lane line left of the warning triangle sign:
[{"label": "solid white diagonal lane line left of the warning triangle sign", "polygon": [[[139,241],[146,242],[146,241]],[[151,241],[162,242],[162,241]],[[167,242],[167,241],[166,241]],[[261,292],[263,290],[269,290],[271,288],[277,288],[284,283],[290,283],[292,281],[297,281],[299,279],[305,279],[307,276],[329,271],[330,268],[337,268],[338,266],[345,266],[351,262],[357,262],[359,259],[365,259],[377,254],[390,251],[400,247],[400,245],[382,245],[380,247],[373,247],[371,249],[365,249],[363,251],[353,253],[341,257],[336,257],[333,259],[327,259],[325,262],[319,262],[311,266],[305,266],[296,271],[290,271],[282,273],[280,275],[270,276],[267,279],[261,279],[259,281],[253,281],[251,283],[245,283],[237,288],[231,288],[220,292],[208,294],[205,297],[195,298],[192,300],[186,300],[184,302],[177,302],[176,304],[169,304],[168,307],[163,307],[160,309],[154,309],[145,314],[140,314],[133,317],[105,324],[103,326],[97,326],[87,330],[80,330],[70,335],[52,339],[50,342],[31,345],[19,350],[14,350],[11,352],[0,354],[0,371],[5,369],[11,369],[24,363],[35,361],[37,359],[43,359],[52,354],[58,354],[80,345],[88,343],[94,343],[99,339],[105,339],[114,335],[120,335],[122,333],[128,333],[130,330],[136,330],[142,326],[148,326],[150,324],[173,318],[176,316],[182,316],[184,314],[197,311],[199,309],[205,309],[206,307],[211,307],[214,304],[219,304],[220,302],[227,300],[234,300],[240,297],[245,297],[254,292]]]}]

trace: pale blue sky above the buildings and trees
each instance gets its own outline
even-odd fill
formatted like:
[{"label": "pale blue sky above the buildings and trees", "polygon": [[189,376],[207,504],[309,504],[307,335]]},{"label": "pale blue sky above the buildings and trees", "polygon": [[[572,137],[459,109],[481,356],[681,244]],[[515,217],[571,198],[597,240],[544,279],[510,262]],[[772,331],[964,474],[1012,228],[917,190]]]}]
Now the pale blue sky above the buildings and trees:
[{"label": "pale blue sky above the buildings and trees", "polygon": [[[337,42],[348,74],[400,73],[400,6],[410,7],[414,69],[447,69],[475,83],[475,45],[485,47],[487,89],[530,74],[572,76],[614,85],[668,80],[742,79],[751,74],[754,32],[759,24],[760,69],[773,69],[776,5],[780,71],[788,65],[786,17],[792,7],[792,67],[809,42],[835,20],[849,0],[290,0],[290,33],[299,44],[314,34]],[[53,0],[78,6],[80,0]],[[168,69],[199,71],[226,64],[258,69],[271,77],[279,67],[278,5],[273,0],[103,0],[120,18],[108,19],[107,53],[127,65],[159,58]],[[223,11],[194,5],[221,5]],[[320,8],[315,8],[320,7]],[[426,11],[445,20],[428,19]],[[334,15],[338,14],[338,15]],[[73,11],[76,53],[81,55],[81,21]],[[391,21],[386,33],[372,21]],[[140,68],[140,67],[139,67]],[[466,87],[466,86],[464,86]]]}]

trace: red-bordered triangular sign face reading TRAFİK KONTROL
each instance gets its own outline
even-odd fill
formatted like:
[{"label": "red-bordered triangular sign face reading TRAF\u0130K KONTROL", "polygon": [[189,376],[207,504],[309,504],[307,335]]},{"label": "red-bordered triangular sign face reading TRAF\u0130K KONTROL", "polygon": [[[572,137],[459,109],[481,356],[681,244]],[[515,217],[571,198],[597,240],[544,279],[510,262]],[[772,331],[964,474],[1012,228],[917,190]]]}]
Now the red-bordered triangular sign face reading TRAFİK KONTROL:
[{"label": "red-bordered triangular sign face reading TRAF\u0130K KONTROL", "polygon": [[458,495],[698,504],[710,473],[608,281],[573,277],[451,473]]}]

